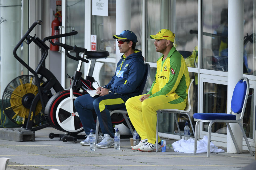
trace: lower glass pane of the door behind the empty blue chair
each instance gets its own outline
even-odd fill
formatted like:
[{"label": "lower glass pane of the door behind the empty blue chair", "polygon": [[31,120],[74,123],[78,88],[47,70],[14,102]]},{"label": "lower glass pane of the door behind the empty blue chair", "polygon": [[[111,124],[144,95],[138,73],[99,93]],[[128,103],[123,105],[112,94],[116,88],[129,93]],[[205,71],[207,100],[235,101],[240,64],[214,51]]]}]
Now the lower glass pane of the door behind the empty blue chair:
[{"label": "lower glass pane of the door behind the empty blue chair", "polygon": [[[246,136],[253,138],[253,89],[250,88],[243,117]],[[227,85],[203,83],[203,113],[227,112]],[[203,131],[208,131],[209,123],[203,122]],[[211,132],[227,134],[225,123],[214,123]]]}]

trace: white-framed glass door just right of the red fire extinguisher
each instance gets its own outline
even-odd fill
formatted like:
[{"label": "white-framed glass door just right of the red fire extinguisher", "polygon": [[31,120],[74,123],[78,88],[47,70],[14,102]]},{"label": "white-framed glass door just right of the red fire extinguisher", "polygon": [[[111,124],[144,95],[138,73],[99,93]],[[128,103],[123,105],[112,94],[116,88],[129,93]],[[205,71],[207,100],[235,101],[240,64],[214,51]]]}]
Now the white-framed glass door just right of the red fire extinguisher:
[{"label": "white-framed glass door just right of the red fire extinguisher", "polygon": [[[62,1],[62,28],[61,33],[67,33],[75,30],[77,35],[63,37],[61,43],[66,43],[71,46],[84,47],[85,44],[85,1],[84,0],[66,0]],[[75,54],[71,54],[75,55]],[[72,60],[65,55],[65,50],[62,48],[62,86],[70,87],[70,79],[67,74],[72,76],[77,70],[78,62]],[[84,70],[84,65],[82,69]],[[82,75],[84,77],[84,74]]]}]

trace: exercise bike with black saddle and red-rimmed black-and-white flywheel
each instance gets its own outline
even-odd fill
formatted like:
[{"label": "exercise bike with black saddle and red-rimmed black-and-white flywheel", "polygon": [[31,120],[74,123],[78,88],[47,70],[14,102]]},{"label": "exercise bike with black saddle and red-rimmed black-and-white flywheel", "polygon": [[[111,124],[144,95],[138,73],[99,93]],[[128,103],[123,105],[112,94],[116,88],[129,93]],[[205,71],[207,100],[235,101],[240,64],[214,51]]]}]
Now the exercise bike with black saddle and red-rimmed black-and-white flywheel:
[{"label": "exercise bike with black saddle and red-rimmed black-and-white flywheel", "polygon": [[[53,95],[45,107],[45,118],[46,121],[53,126],[55,129],[67,132],[67,134],[49,134],[49,138],[60,137],[62,138],[63,142],[66,141],[76,141],[77,138],[73,137],[81,137],[77,134],[83,131],[83,126],[80,121],[79,115],[74,107],[74,100],[78,96],[83,94],[87,94],[88,90],[96,90],[92,83],[95,82],[94,78],[92,77],[93,69],[95,66],[95,62],[98,58],[106,58],[109,56],[109,52],[94,52],[94,51],[87,51],[84,48],[79,48],[77,46],[70,46],[63,43],[55,42],[53,43],[51,40],[49,42],[52,45],[58,45],[65,49],[67,57],[77,60],[78,58],[82,58],[83,60],[79,60],[77,70],[75,71],[74,75],[71,78],[71,86],[68,90],[62,90],[57,92]],[[71,56],[70,52],[75,52],[76,57]],[[80,57],[79,53],[83,52],[83,56]],[[82,62],[89,62],[84,57],[86,55],[86,59],[90,60],[89,63],[89,73],[85,79],[83,79],[81,67]],[[96,117],[95,117],[96,120]]]}]

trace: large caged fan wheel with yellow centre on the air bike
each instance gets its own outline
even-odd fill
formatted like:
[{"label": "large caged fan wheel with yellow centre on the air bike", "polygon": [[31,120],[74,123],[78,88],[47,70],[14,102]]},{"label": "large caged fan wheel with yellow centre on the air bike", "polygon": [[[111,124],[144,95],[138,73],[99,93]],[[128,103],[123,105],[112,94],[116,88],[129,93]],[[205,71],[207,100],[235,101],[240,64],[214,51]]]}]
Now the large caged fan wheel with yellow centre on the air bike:
[{"label": "large caged fan wheel with yellow centre on the air bike", "polygon": [[[43,86],[44,83],[41,80],[40,86]],[[22,75],[13,79],[6,86],[2,96],[2,106],[6,116],[15,124],[22,126],[29,116],[30,106],[37,94],[38,87],[34,76]],[[44,113],[39,100],[32,125],[36,126],[43,120]]]}]

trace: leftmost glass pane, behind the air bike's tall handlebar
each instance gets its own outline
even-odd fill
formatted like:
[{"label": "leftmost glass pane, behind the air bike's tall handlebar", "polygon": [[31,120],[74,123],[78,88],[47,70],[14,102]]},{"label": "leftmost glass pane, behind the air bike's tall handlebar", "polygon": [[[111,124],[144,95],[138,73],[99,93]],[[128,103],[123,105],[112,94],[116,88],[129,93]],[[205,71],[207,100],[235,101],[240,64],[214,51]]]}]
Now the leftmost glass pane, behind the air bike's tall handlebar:
[{"label": "leftmost glass pane, behind the air bike's tall handlebar", "polygon": [[[1,66],[1,97],[5,87],[14,78],[28,74],[26,67],[13,56],[13,49],[28,29],[29,1],[0,0],[0,66]],[[31,25],[29,25],[31,26]],[[28,63],[28,45],[22,43],[17,55]],[[8,70],[8,71],[7,71]]]}]

